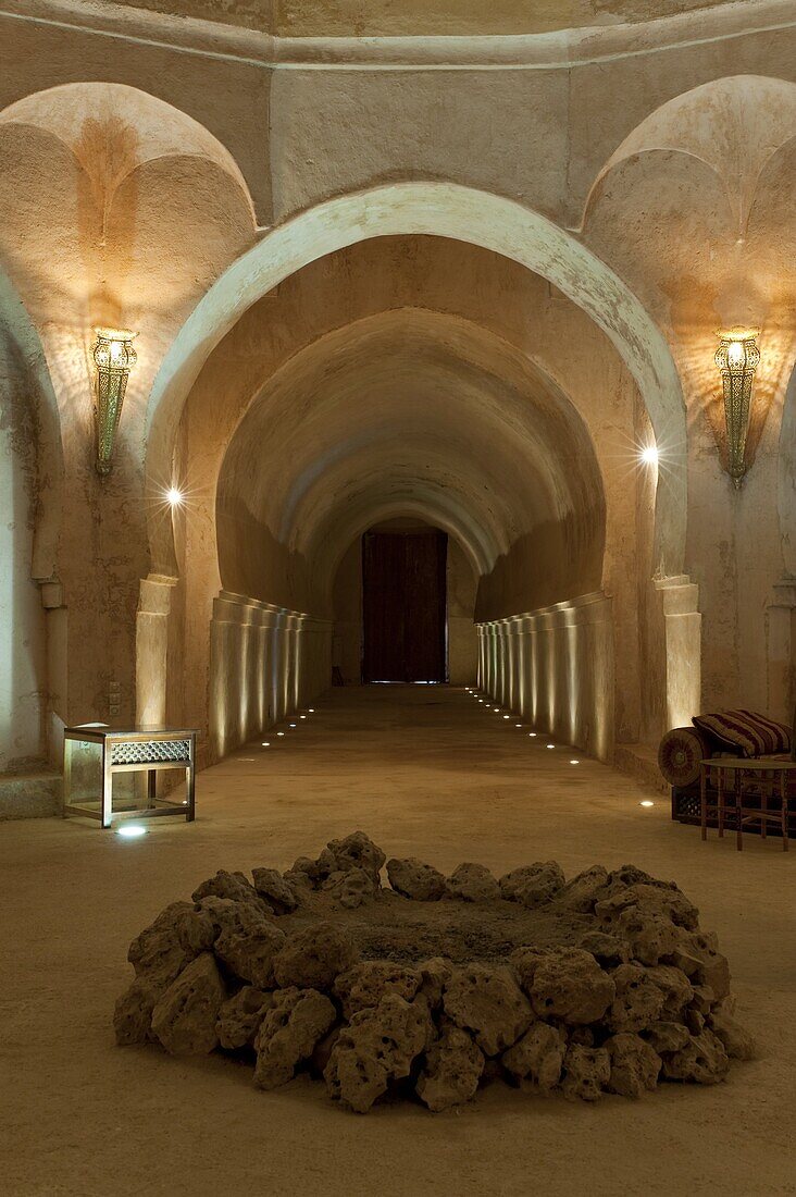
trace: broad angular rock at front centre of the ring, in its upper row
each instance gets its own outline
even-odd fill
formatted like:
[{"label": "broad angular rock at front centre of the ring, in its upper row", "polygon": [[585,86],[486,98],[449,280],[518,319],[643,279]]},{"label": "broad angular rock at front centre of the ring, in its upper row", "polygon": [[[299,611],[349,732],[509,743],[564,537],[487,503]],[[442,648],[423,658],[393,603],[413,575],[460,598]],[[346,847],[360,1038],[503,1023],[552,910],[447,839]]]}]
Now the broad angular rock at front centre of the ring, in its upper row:
[{"label": "broad angular rock at front centre of the ring, in its upper row", "polygon": [[470,1031],[486,1056],[511,1047],[534,1021],[530,1002],[510,968],[468,965],[456,968],[445,986],[448,1017]]}]

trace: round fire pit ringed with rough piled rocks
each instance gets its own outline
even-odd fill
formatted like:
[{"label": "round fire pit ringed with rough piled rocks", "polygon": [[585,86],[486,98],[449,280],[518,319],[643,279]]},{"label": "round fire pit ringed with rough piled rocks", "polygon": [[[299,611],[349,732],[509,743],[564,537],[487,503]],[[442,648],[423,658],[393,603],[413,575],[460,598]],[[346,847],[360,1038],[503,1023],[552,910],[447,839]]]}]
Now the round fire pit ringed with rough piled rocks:
[{"label": "round fire pit ringed with rough piled rocks", "polygon": [[119,1044],[231,1052],[261,1089],[309,1071],[358,1113],[413,1095],[440,1111],[496,1080],[639,1098],[713,1084],[754,1052],[716,936],[674,882],[631,864],[445,877],[354,832],[284,874],[220,870],[128,959]]}]

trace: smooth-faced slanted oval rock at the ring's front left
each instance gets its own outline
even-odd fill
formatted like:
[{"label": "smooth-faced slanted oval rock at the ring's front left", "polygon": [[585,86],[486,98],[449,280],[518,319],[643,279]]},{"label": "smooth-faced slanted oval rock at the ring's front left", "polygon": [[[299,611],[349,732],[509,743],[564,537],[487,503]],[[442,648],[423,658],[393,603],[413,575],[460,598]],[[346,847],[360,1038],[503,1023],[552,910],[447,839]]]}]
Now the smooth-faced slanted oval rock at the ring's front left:
[{"label": "smooth-faced slanted oval rock at the ring's front left", "polygon": [[171,1056],[206,1056],[218,1046],[215,1023],[225,998],[215,960],[202,952],[157,1002],[152,1031]]}]

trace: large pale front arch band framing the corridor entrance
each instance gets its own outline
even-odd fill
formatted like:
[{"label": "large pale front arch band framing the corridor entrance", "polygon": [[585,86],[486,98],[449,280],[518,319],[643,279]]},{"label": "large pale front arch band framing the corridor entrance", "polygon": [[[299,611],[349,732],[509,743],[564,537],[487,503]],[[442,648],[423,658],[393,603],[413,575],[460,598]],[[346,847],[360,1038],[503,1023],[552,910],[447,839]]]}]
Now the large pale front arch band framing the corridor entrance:
[{"label": "large pale front arch band framing the corridor entrance", "polygon": [[[303,266],[371,237],[424,233],[469,242],[549,279],[606,332],[646,403],[667,468],[660,473],[655,563],[680,573],[686,531],[685,408],[668,346],[621,280],[571,233],[514,201],[451,183],[395,183],[329,200],[267,233],[209,288],[183,324],[150,396],[147,488],[154,499],[171,472],[182,406],[203,361],[236,320]],[[158,511],[157,503],[150,509]],[[174,575],[172,529],[150,522],[152,570]]]}]

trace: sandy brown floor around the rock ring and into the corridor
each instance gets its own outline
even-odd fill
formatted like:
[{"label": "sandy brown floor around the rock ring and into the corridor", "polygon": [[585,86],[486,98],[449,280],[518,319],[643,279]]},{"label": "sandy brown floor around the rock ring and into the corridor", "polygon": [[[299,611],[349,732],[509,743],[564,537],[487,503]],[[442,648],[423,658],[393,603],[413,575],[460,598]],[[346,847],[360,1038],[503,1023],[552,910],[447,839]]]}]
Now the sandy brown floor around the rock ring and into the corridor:
[{"label": "sandy brown floor around the rock ring and into the corridor", "polygon": [[[124,841],[81,820],[0,825],[0,1191],[10,1195],[796,1193],[796,851],[701,844],[666,801],[487,715],[462,692],[345,691],[271,749],[200,776],[193,826]],[[502,873],[633,862],[718,930],[760,1057],[716,1088],[596,1107],[493,1086],[366,1118],[299,1080],[117,1049],[127,944],[219,867],[287,867],[361,827],[390,855]]]}]

